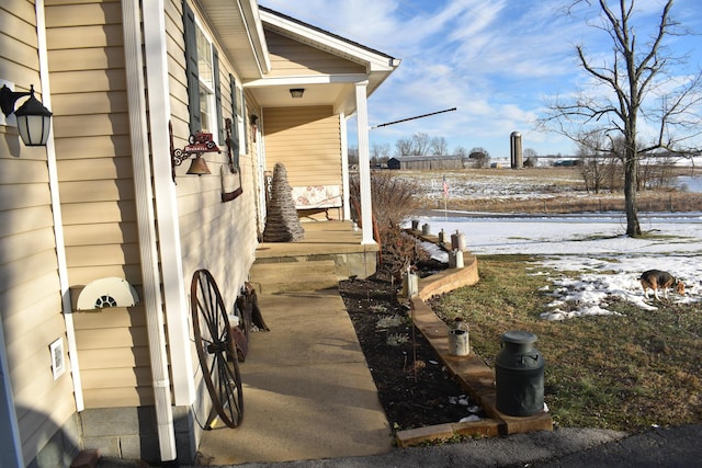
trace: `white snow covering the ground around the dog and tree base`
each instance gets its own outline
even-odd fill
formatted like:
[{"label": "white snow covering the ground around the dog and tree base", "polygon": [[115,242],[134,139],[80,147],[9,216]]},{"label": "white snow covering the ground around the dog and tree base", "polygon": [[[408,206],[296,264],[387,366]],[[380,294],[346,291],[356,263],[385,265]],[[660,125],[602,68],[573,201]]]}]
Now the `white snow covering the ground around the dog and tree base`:
[{"label": "white snow covering the ground around the dog and tree base", "polygon": [[[702,213],[639,215],[642,229],[652,235],[646,239],[623,236],[626,221],[619,214],[490,217],[442,212],[417,219],[433,235],[443,229],[448,240],[463,233],[467,250],[477,255],[536,255],[532,274],[548,275],[554,297],[542,313],[546,320],[615,313],[608,309],[612,296],[656,310],[653,295],[644,300],[638,282],[653,269],[668,271],[686,285],[686,296],[670,292],[668,300],[702,309]],[[432,255],[448,262],[445,252],[434,249]]]}]

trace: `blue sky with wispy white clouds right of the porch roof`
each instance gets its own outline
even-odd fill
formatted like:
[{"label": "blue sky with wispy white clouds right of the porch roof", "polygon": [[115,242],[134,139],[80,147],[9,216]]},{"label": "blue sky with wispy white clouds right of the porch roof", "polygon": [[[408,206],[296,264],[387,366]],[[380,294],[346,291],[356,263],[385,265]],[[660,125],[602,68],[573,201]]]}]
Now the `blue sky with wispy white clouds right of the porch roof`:
[{"label": "blue sky with wispy white clouds right of the porch roof", "polygon": [[[261,0],[261,4],[401,59],[371,96],[371,126],[456,107],[437,116],[371,130],[370,142],[389,144],[424,133],[509,157],[509,136],[537,155],[571,155],[575,145],[536,130],[554,95],[592,89],[575,46],[607,59],[611,39],[589,26],[584,11],[561,13],[569,0]],[[659,20],[663,0],[638,0],[639,42]],[[702,34],[702,2],[677,0],[672,16]],[[597,20],[589,15],[590,23]],[[670,37],[671,55],[689,55],[673,69],[681,77],[702,69],[701,35]],[[350,122],[351,126],[355,121]],[[350,126],[350,129],[352,127]],[[354,135],[350,135],[353,145]]]}]

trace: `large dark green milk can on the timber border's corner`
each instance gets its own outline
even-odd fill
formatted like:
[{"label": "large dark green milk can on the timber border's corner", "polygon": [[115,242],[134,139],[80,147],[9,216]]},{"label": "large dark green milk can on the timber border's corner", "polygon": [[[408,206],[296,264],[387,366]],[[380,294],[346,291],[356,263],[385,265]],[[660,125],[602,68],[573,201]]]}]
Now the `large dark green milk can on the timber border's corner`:
[{"label": "large dark green milk can on the timber border's corner", "polygon": [[495,357],[497,410],[511,416],[543,411],[545,362],[534,347],[536,335],[508,331],[500,338],[502,350]]}]

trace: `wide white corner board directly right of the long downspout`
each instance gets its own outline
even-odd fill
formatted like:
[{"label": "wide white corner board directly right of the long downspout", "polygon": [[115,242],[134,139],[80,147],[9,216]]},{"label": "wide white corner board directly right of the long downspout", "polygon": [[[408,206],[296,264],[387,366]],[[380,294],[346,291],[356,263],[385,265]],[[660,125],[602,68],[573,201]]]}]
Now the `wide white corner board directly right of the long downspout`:
[{"label": "wide white corner board directly right of the long downspout", "polygon": [[[143,2],[144,44],[146,46],[146,82],[154,168],[154,191],[158,214],[158,242],[163,282],[163,299],[168,327],[168,352],[173,379],[176,406],[195,401],[193,356],[188,326],[190,305],[183,282],[182,249],[178,225],[176,185],[171,179],[171,155],[168,123],[171,118],[170,87],[163,0]],[[139,70],[141,72],[141,70]]]}]

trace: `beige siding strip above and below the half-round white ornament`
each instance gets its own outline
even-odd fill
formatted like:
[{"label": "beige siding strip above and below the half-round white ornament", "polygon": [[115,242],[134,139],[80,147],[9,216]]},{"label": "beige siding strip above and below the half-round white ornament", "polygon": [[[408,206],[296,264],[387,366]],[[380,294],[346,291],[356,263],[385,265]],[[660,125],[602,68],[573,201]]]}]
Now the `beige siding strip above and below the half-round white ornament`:
[{"label": "beige siding strip above and below the half-round white ornament", "polygon": [[[46,21],[69,284],[117,276],[140,290],[121,2],[47,2]],[[86,408],[152,402],[150,381],[129,377],[149,368],[145,323],[112,320],[122,315],[144,310],[73,315],[80,359],[122,357],[81,363]]]}]

